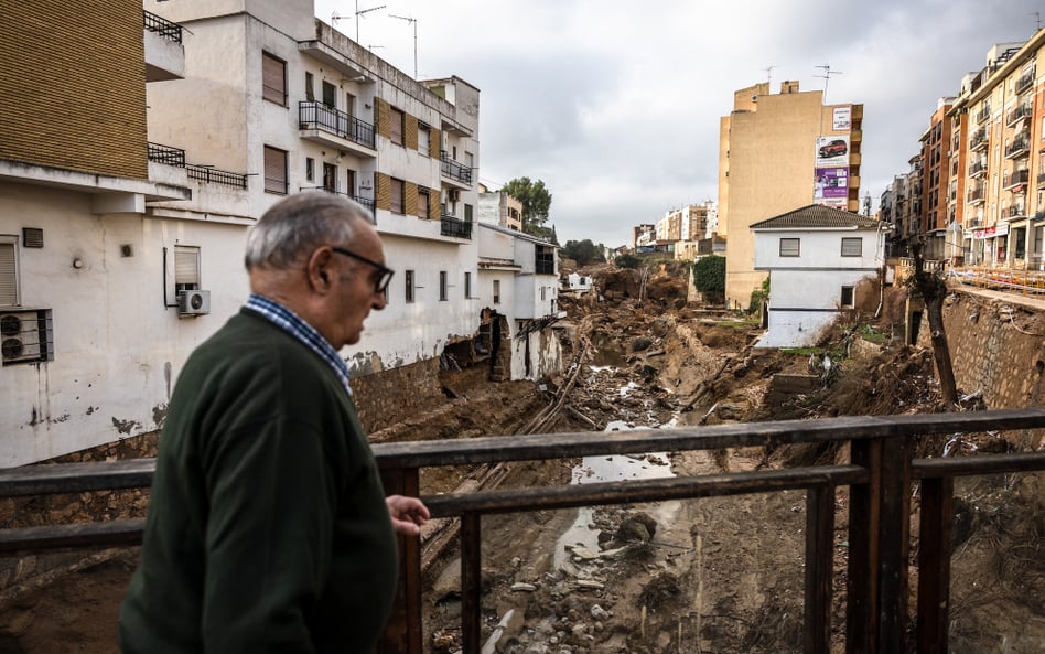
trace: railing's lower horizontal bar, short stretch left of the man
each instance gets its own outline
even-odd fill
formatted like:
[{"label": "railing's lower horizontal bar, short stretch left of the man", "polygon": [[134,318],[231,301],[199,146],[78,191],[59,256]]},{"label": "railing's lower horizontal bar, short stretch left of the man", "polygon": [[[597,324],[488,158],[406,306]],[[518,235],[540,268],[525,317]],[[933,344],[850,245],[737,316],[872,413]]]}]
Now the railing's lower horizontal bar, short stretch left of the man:
[{"label": "railing's lower horizontal bar, short stretch left of the man", "polygon": [[144,527],[146,521],[136,518],[0,529],[0,551],[141,545]]}]

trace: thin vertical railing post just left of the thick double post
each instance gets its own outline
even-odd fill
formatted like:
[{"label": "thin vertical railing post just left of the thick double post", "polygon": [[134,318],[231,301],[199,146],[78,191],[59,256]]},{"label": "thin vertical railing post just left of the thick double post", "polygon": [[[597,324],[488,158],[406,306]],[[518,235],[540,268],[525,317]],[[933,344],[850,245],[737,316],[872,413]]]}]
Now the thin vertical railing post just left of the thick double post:
[{"label": "thin vertical railing post just left of the thick double post", "polygon": [[806,591],[802,651],[830,654],[834,577],[834,486],[806,492]]}]

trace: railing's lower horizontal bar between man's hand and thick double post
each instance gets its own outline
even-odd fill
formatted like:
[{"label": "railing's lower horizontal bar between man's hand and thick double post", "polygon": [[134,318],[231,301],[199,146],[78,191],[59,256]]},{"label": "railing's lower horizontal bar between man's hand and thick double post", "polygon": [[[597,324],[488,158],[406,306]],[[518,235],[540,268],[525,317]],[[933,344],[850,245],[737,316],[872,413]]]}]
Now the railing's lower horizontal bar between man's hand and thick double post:
[{"label": "railing's lower horizontal bar between man's hand and thick double post", "polygon": [[774,493],[821,485],[868,483],[870,472],[861,465],[823,465],[762,470],[700,476],[676,476],[638,481],[498,489],[422,497],[433,517],[465,513],[515,513],[551,508],[575,508],[605,504],[664,502],[747,493]]}]

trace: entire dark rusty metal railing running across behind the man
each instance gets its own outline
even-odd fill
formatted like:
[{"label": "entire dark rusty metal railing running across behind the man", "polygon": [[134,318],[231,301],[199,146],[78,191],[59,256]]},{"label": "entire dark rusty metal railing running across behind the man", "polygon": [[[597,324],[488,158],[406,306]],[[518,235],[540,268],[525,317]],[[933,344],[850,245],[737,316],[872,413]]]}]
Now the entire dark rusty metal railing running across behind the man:
[{"label": "entire dark rusty metal railing running across behind the man", "polygon": [[[718,425],[671,430],[550,433],[378,443],[373,447],[387,493],[417,494],[423,468],[505,461],[559,460],[643,452],[680,452],[795,443],[850,444],[850,463],[565,486],[498,489],[424,496],[433,517],[461,519],[464,654],[478,654],[482,635],[481,539],[484,515],[806,491],[804,652],[831,652],[834,612],[836,490],[850,487],[849,558],[844,579],[845,651],[905,652],[906,591],[913,484],[920,484],[918,652],[946,652],[949,626],[954,480],[1045,470],[1045,452],[914,459],[917,437],[1045,428],[1045,409],[863,416]],[[151,459],[0,470],[0,497],[146,487]],[[0,550],[37,551],[84,545],[140,543],[143,521],[110,521],[0,530]],[[383,652],[420,654],[420,545],[400,539],[407,583]],[[408,590],[407,590],[408,589]],[[697,634],[700,637],[702,634]]]}]

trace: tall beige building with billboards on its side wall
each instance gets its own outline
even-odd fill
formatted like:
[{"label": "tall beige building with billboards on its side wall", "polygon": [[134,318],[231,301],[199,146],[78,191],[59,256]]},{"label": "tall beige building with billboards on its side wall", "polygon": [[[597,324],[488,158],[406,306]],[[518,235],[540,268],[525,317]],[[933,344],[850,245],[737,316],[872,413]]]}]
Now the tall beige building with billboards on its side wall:
[{"label": "tall beige building with billboards on its side wall", "polygon": [[733,95],[720,122],[719,234],[726,238],[725,296],[746,308],[766,277],[754,267],[752,224],[809,204],[860,208],[863,105],[823,105],[820,90],[785,81]]}]

